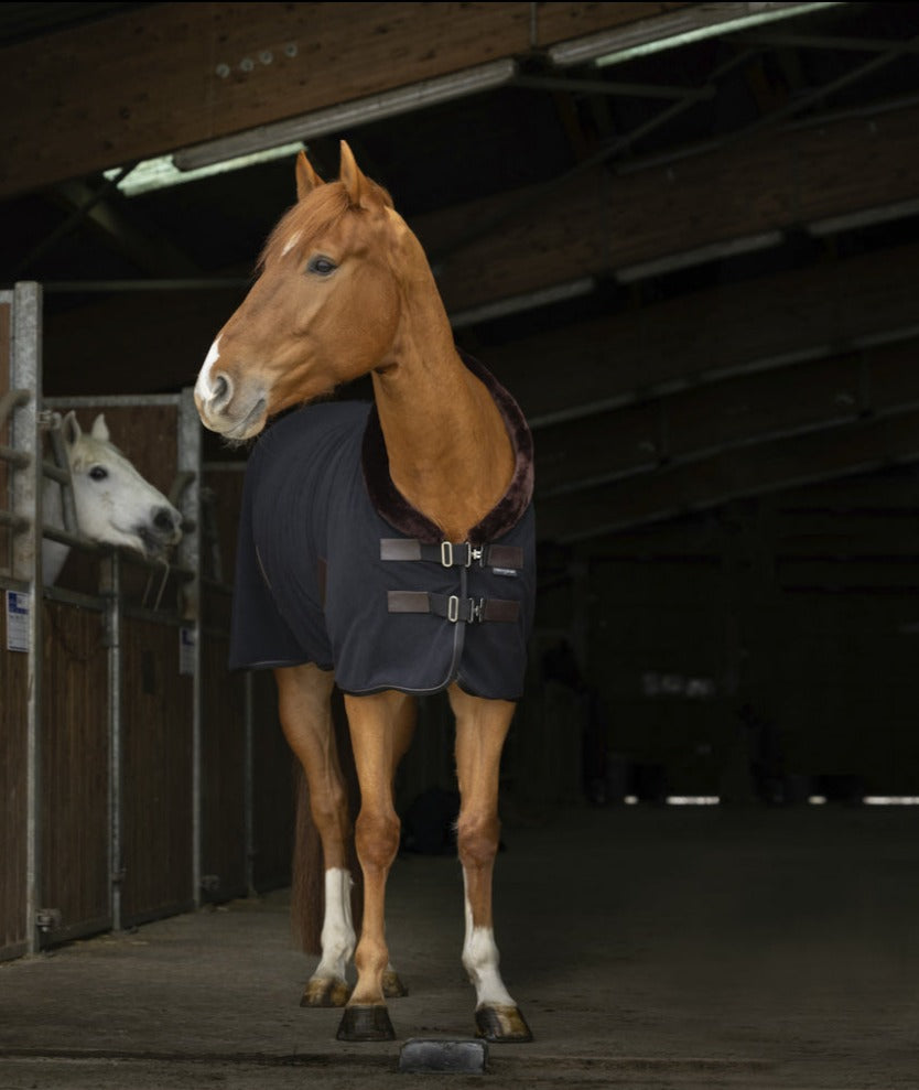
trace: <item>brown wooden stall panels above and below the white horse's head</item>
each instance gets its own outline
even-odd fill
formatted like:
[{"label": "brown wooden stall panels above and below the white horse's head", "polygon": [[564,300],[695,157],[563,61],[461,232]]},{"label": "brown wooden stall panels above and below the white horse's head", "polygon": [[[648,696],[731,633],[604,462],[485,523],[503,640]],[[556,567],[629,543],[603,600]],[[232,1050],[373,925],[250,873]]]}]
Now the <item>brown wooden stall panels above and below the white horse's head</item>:
[{"label": "brown wooden stall panels above and below the white horse's head", "polygon": [[[112,442],[170,495],[179,472],[174,400],[80,401],[75,411],[85,430],[101,412]],[[122,926],[195,903],[194,679],[181,673],[183,584],[122,553],[120,623],[112,630],[94,604],[109,593],[112,563],[106,551],[73,549],[57,586],[86,601],[54,601],[52,591],[45,604],[42,896],[60,914],[48,941],[110,926],[111,882]],[[121,659],[116,693],[112,644]],[[117,785],[110,783],[112,700],[121,716]]]}]

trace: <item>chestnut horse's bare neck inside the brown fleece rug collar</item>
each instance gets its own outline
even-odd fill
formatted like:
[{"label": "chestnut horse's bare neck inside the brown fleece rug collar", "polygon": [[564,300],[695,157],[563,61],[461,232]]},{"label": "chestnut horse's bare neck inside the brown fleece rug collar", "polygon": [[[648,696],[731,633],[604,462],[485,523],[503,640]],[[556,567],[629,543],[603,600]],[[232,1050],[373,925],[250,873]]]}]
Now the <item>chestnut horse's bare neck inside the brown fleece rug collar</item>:
[{"label": "chestnut horse's bare neck inside the brown fleece rug collar", "polygon": [[374,386],[392,483],[445,538],[465,540],[513,474],[494,399],[443,337],[425,347],[410,341]]}]

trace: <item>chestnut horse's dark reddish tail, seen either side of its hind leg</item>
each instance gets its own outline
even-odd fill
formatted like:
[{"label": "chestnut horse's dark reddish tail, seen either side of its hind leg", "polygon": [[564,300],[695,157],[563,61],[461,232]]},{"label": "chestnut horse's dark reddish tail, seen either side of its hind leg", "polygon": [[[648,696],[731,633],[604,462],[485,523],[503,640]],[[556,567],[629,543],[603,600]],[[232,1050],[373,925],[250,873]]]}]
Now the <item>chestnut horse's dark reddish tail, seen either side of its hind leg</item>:
[{"label": "chestnut horse's dark reddish tail, seen either side of its hind leg", "polygon": [[[348,819],[350,828],[357,817],[360,794],[357,786],[357,769],[352,752],[350,735],[340,697],[333,699],[335,742],[338,749],[338,764],[348,797]],[[322,953],[322,925],[325,914],[325,861],[322,841],[310,809],[310,788],[299,760],[294,760],[295,814],[293,837],[293,861],[291,866],[291,929],[296,945],[306,953]],[[354,835],[348,840],[348,870],[354,886],[352,888],[352,917],[355,930],[360,930],[364,911],[364,882]]]}]

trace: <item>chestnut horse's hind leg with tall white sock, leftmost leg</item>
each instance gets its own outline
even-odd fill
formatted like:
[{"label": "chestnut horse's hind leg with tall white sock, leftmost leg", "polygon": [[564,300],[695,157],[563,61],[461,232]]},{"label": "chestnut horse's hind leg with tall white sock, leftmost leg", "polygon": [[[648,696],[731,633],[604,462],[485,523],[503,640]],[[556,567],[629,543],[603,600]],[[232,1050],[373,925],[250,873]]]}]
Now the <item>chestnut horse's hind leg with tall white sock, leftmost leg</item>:
[{"label": "chestnut horse's hind leg with tall white sock, leftmost leg", "polygon": [[[278,708],[284,735],[303,766],[310,791],[310,810],[322,841],[322,860],[298,859],[294,867],[324,865],[325,910],[321,936],[321,957],[306,983],[303,1006],[344,1006],[348,999],[346,965],[355,946],[352,924],[352,876],[347,845],[352,834],[347,788],[338,764],[331,697],[334,684],[329,671],[312,663],[279,668]],[[317,913],[315,903],[305,906]]]}]

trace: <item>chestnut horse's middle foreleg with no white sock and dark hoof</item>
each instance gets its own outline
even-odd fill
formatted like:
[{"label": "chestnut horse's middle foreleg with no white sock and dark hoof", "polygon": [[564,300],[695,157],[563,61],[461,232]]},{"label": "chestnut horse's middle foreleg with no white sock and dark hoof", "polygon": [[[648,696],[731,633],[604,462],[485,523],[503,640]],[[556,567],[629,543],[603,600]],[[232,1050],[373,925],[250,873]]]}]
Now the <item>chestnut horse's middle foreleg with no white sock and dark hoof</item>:
[{"label": "chestnut horse's middle foreleg with no white sock and dark hoof", "polygon": [[396,1036],[385,997],[389,969],[385,907],[386,882],[399,850],[392,777],[411,734],[410,704],[411,698],[391,691],[345,697],[360,783],[355,843],[364,872],[364,924],[354,959],[357,983],[338,1027],[339,1040],[392,1040]]}]

